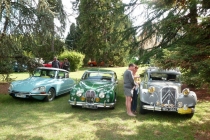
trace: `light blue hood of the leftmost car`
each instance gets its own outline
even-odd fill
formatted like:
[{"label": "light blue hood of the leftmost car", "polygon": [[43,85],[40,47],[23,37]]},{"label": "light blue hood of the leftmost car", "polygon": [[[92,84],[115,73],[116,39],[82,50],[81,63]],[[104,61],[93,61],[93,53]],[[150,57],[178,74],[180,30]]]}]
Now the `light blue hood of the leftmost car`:
[{"label": "light blue hood of the leftmost car", "polygon": [[30,77],[25,80],[18,80],[12,82],[12,90],[30,92],[35,87],[45,86],[47,84],[52,84],[54,82],[55,80],[52,78]]}]

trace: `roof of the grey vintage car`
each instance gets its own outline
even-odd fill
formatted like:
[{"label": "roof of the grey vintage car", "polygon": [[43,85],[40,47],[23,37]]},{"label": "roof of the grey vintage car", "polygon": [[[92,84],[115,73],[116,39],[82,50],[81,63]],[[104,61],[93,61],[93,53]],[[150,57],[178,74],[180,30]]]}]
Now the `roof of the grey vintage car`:
[{"label": "roof of the grey vintage car", "polygon": [[146,69],[146,72],[148,73],[172,73],[172,74],[181,74],[181,72],[178,69],[161,69],[158,67],[149,67]]}]

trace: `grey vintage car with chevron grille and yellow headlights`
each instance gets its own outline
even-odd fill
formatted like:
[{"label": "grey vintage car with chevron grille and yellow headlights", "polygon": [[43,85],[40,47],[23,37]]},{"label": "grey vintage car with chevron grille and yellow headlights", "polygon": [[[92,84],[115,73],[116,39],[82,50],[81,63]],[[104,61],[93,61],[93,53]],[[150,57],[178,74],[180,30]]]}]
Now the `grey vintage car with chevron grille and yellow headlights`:
[{"label": "grey vintage car with chevron grille and yellow headlights", "polygon": [[185,88],[181,91],[181,72],[150,67],[140,84],[140,113],[146,110],[177,112],[192,117],[197,96]]}]

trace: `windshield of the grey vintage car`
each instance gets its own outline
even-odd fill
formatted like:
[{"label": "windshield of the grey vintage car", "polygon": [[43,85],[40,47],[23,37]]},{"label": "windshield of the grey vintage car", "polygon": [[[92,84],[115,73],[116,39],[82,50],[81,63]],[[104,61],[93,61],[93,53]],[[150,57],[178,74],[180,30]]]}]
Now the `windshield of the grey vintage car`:
[{"label": "windshield of the grey vintage car", "polygon": [[174,81],[180,82],[180,74],[173,73],[150,73],[150,81]]}]

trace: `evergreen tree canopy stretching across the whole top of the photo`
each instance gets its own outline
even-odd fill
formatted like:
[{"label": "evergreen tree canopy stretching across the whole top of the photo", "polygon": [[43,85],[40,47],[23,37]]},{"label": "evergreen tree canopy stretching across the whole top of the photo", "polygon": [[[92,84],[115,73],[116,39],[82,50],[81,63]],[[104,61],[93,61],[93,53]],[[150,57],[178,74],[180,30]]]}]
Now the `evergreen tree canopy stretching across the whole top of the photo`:
[{"label": "evergreen tree canopy stretching across the whole top of the photo", "polygon": [[[48,56],[63,50],[59,32],[65,30],[66,14],[61,0],[0,3],[0,63],[23,54],[39,57],[46,54],[43,49]],[[139,15],[145,15],[145,22],[133,26],[130,12],[137,5],[144,7]],[[139,55],[141,62],[152,59],[163,68],[180,67],[199,83],[210,82],[209,0],[75,0],[74,6],[77,23],[65,43],[87,60],[124,66],[129,56]]]}]

